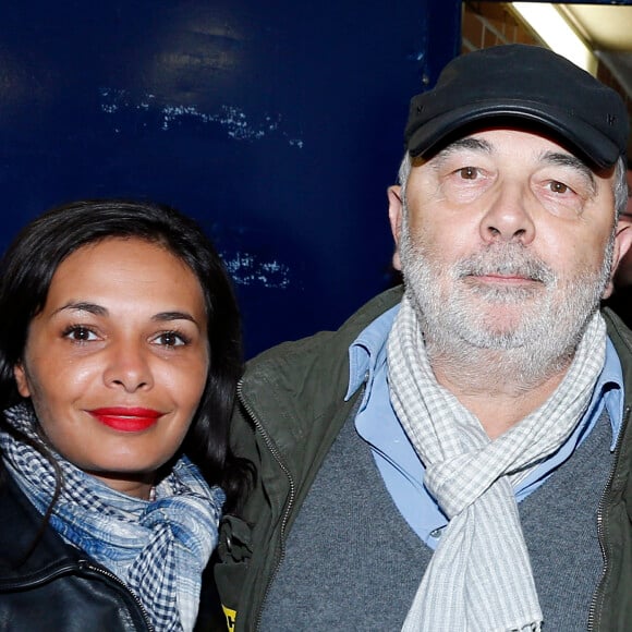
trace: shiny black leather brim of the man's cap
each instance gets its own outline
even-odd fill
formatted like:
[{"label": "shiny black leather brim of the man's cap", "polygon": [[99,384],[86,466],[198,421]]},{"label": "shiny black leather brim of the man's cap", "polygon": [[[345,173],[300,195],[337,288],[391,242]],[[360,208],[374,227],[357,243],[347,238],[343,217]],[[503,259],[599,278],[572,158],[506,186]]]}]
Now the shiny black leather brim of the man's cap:
[{"label": "shiny black leather brim of the man's cap", "polygon": [[515,120],[522,125],[544,129],[587,163],[603,169],[612,167],[619,158],[617,145],[594,126],[570,117],[566,110],[556,111],[547,106],[547,110],[543,111],[540,104],[523,100],[502,104],[478,101],[435,117],[412,133],[408,149],[411,156],[427,158],[439,151],[447,141],[454,139],[461,129],[475,127],[478,123],[489,123],[491,126],[495,120],[503,126]]}]

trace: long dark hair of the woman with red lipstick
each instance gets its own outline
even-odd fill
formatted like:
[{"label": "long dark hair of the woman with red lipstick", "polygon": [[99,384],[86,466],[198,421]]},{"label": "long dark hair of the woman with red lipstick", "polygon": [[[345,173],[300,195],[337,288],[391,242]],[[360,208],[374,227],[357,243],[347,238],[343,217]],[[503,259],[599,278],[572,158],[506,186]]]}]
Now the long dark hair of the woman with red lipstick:
[{"label": "long dark hair of the woman with red lipstick", "polygon": [[196,222],[173,208],[130,199],[74,202],[39,216],[17,234],[0,262],[0,410],[22,401],[13,370],[22,361],[29,324],[46,304],[57,268],[78,248],[111,238],[159,244],[199,281],[210,365],[182,450],[210,485],[223,487],[224,509],[232,511],[252,478],[250,463],[233,457],[229,447],[230,417],[243,366],[240,315],[215,247]]}]

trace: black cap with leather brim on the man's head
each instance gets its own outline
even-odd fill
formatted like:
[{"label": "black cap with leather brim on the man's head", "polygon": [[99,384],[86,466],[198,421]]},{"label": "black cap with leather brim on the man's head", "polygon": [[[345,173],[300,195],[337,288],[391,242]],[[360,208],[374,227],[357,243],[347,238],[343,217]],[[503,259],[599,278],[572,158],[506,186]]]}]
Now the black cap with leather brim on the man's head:
[{"label": "black cap with leather brim on the man's head", "polygon": [[429,157],[487,125],[544,129],[599,168],[627,153],[628,110],[619,94],[539,46],[495,46],[453,59],[433,89],[412,98],[406,149]]}]

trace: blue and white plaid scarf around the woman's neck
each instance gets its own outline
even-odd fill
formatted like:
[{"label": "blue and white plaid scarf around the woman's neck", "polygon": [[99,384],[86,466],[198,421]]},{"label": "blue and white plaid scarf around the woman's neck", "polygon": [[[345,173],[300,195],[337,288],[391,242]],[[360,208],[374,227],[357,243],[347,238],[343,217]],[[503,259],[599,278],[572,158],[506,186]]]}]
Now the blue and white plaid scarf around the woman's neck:
[{"label": "blue and white plaid scarf around the woman's neck", "polygon": [[[19,404],[4,415],[15,429],[41,443],[31,406]],[[56,486],[51,464],[4,432],[0,447],[10,474],[44,514]],[[217,545],[222,489],[209,488],[183,457],[156,488],[156,500],[141,500],[52,454],[63,473],[52,528],[118,575],[141,599],[157,631],[192,630],[202,572]]]}]

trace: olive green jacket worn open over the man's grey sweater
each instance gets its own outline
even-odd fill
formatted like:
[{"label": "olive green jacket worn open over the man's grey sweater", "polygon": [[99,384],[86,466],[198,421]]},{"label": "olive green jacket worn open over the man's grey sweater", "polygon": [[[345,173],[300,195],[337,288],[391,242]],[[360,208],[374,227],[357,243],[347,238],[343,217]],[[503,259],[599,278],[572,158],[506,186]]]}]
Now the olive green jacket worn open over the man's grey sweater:
[{"label": "olive green jacket worn open over the man's grey sweater", "polygon": [[[260,609],[282,560],[288,532],[355,398],[345,402],[349,347],[375,318],[401,301],[389,290],[338,331],[276,347],[248,363],[239,388],[232,435],[238,454],[258,471],[244,520],[227,516],[215,573],[229,629],[257,630]],[[624,425],[604,491],[598,531],[604,575],[591,608],[591,630],[632,630],[632,332],[605,311],[625,381]],[[362,389],[360,389],[362,390]],[[236,623],[235,623],[236,615]]]}]

